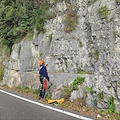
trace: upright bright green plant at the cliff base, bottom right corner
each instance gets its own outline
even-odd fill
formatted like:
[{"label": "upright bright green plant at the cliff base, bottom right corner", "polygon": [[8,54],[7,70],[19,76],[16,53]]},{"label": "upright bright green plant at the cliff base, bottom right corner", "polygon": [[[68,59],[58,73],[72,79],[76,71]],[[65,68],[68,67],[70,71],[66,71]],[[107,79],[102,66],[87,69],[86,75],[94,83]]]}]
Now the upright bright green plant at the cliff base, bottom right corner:
[{"label": "upright bright green plant at the cliff base, bottom right corner", "polygon": [[108,100],[108,113],[115,113],[115,103],[114,103],[114,98],[110,97]]}]

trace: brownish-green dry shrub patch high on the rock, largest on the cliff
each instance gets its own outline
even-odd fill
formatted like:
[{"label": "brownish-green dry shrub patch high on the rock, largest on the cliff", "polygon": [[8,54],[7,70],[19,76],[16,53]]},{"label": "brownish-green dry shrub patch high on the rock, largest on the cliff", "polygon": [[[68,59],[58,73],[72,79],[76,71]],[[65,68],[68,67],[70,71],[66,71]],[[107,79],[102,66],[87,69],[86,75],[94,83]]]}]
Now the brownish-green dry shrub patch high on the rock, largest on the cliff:
[{"label": "brownish-green dry shrub patch high on the rock, largest on the cliff", "polygon": [[65,27],[64,31],[66,33],[70,33],[71,31],[75,30],[75,27],[77,26],[78,16],[77,12],[70,7],[68,14],[65,17]]}]

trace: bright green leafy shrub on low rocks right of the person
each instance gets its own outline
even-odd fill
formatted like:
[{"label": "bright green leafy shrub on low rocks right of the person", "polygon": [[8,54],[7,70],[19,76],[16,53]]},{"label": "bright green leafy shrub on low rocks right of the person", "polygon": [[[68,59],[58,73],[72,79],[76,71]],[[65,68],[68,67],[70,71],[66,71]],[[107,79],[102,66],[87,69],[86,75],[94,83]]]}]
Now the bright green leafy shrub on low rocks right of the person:
[{"label": "bright green leafy shrub on low rocks right of the person", "polygon": [[82,84],[85,80],[85,77],[77,76],[77,78],[71,84],[72,90],[78,90],[78,85]]}]

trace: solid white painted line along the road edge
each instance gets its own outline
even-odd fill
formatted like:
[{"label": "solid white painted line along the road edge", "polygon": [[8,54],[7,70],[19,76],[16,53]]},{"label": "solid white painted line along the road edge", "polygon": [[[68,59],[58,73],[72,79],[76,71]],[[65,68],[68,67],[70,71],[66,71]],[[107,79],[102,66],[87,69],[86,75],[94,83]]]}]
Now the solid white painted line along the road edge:
[{"label": "solid white painted line along the road edge", "polygon": [[29,103],[33,103],[33,104],[42,106],[42,107],[44,107],[44,108],[48,108],[48,109],[50,109],[50,110],[57,111],[57,112],[59,112],[59,113],[63,113],[63,114],[66,114],[66,115],[69,115],[69,116],[78,118],[78,119],[82,119],[82,120],[93,120],[93,119],[90,119],[90,118],[87,118],[87,117],[83,117],[83,116],[80,116],[80,115],[77,115],[77,114],[74,114],[74,113],[71,113],[71,112],[67,112],[67,111],[64,111],[64,110],[60,110],[60,109],[58,109],[58,108],[54,108],[54,107],[51,107],[51,106],[48,106],[48,105],[44,105],[44,104],[41,104],[41,103],[38,103],[38,102],[35,102],[35,101],[32,101],[32,100],[26,99],[26,98],[24,98],[24,97],[21,97],[21,96],[18,96],[18,95],[15,95],[15,94],[6,92],[6,91],[1,90],[1,89],[0,89],[0,92],[5,93],[5,94],[10,95],[10,96],[13,96],[13,97],[18,98],[18,99],[27,101],[27,102],[29,102]]}]

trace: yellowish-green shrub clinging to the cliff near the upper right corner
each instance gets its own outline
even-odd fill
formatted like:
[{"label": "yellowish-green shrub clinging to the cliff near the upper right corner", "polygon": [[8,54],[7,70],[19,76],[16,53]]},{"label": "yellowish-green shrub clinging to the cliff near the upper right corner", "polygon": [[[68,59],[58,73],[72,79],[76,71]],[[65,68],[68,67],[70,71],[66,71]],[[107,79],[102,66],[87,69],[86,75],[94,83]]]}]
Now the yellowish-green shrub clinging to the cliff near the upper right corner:
[{"label": "yellowish-green shrub clinging to the cliff near the upper right corner", "polygon": [[108,10],[107,10],[107,6],[101,6],[99,9],[98,9],[98,13],[100,14],[100,17],[102,19],[108,19]]}]

